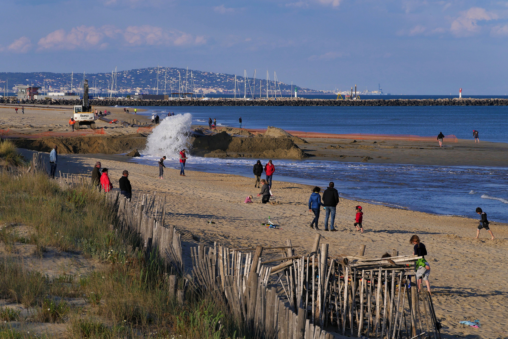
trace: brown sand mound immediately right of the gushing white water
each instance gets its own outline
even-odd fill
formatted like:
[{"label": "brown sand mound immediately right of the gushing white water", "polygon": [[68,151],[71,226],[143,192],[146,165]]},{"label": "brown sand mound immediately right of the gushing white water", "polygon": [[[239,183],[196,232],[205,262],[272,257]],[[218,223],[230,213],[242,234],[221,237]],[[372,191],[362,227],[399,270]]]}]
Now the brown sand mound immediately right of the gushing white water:
[{"label": "brown sand mound immediately right of the gushing white water", "polygon": [[289,138],[240,138],[226,131],[193,140],[197,156],[211,158],[274,158],[303,159],[307,155]]}]

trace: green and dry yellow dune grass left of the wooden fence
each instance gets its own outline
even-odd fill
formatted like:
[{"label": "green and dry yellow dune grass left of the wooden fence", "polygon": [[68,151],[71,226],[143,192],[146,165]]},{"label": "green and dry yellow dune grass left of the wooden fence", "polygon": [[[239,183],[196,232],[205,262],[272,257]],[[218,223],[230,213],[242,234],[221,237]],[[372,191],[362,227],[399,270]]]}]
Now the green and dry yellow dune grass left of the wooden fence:
[{"label": "green and dry yellow dune grass left of the wooden fence", "polygon": [[[6,247],[33,244],[39,257],[53,247],[81,253],[103,267],[51,278],[6,257],[0,263],[0,297],[34,307],[36,312],[25,320],[66,323],[70,338],[244,335],[226,305],[210,296],[187,288],[185,303],[179,304],[169,291],[162,261],[155,253],[134,251],[139,239],[113,231],[116,223],[114,209],[96,190],[62,190],[46,174],[0,173],[0,241]],[[5,225],[25,225],[31,233],[21,237],[16,227]],[[183,287],[182,278],[178,285]],[[63,298],[84,298],[87,306],[72,307]],[[4,337],[31,334],[2,330]]]}]

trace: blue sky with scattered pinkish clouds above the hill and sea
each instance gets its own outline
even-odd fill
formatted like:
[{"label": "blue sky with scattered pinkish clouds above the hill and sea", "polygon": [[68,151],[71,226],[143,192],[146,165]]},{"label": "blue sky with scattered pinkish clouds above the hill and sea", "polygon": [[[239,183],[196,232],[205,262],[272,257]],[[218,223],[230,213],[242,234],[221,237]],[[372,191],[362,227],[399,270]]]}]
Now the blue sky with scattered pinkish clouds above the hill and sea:
[{"label": "blue sky with scattered pinkish clouds above the hill and sea", "polygon": [[[3,0],[0,72],[144,67],[404,95],[508,93],[508,1]],[[10,19],[6,20],[6,13]],[[0,79],[2,80],[2,79]]]}]

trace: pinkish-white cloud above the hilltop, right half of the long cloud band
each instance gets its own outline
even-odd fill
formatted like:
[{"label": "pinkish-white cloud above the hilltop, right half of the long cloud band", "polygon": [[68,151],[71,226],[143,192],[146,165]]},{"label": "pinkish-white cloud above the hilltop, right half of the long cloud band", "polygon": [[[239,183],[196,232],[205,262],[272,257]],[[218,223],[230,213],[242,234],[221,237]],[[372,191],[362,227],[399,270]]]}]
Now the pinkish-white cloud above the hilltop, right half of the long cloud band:
[{"label": "pinkish-white cloud above the hilltop, right half of the long cloud band", "polygon": [[204,36],[193,36],[180,30],[165,30],[150,25],[129,26],[123,33],[125,42],[130,45],[201,45],[206,43]]}]

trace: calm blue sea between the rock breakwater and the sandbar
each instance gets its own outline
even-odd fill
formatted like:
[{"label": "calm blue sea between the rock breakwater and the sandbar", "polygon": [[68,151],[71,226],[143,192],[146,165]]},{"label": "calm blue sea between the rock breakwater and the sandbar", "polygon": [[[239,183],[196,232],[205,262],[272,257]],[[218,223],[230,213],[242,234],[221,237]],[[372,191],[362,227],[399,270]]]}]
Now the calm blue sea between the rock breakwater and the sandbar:
[{"label": "calm blue sea between the rock breakwater and the sandbar", "polygon": [[396,106],[396,107],[272,107],[272,106],[153,106],[140,114],[167,116],[168,112],[190,113],[193,124],[207,125],[208,118],[218,126],[265,128],[322,133],[412,134],[434,136],[454,134],[459,139],[508,142],[508,106]]}]

